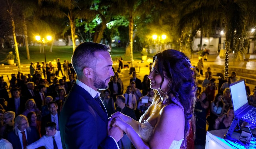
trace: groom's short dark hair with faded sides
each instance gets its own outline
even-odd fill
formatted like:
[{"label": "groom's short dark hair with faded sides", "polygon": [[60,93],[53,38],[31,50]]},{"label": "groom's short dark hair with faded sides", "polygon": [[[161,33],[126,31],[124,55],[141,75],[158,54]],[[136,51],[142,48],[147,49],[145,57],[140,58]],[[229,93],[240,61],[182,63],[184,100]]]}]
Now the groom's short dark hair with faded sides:
[{"label": "groom's short dark hair with faded sides", "polygon": [[110,47],[105,44],[98,44],[92,42],[84,42],[79,44],[72,55],[71,63],[77,74],[77,78],[83,77],[84,67],[90,67],[95,70],[97,59],[95,59],[95,52],[108,51]]}]

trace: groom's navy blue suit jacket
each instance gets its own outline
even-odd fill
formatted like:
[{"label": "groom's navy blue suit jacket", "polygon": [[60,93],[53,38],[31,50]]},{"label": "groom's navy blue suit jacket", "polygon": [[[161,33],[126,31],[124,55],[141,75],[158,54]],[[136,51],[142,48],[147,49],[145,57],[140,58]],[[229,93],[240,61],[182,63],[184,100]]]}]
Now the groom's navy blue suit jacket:
[{"label": "groom's navy blue suit jacket", "polygon": [[[103,103],[101,105],[104,107]],[[115,141],[107,136],[108,115],[85,89],[72,86],[59,119],[63,148],[113,148]]]}]

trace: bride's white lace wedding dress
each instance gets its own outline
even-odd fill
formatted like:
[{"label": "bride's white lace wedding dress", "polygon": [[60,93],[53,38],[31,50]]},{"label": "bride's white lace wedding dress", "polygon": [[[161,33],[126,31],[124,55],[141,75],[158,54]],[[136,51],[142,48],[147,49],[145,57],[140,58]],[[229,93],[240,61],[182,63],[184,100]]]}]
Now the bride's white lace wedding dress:
[{"label": "bride's white lace wedding dress", "polygon": [[[141,118],[139,119],[139,136],[145,141],[145,142],[149,142],[150,137],[153,133],[153,129],[154,127],[151,126],[151,124],[148,121],[143,121],[142,119],[144,118],[144,115],[147,113],[147,111],[144,112],[144,114],[141,116]],[[179,141],[173,140],[171,146],[169,147],[172,149],[179,149],[181,147],[182,141],[184,139],[181,139]]]}]

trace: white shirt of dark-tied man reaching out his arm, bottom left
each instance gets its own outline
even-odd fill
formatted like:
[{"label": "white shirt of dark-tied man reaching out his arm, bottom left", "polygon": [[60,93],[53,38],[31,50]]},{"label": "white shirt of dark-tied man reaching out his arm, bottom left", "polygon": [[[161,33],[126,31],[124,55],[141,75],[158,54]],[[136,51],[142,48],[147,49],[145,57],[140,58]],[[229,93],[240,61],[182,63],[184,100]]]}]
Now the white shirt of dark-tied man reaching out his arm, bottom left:
[{"label": "white shirt of dark-tied man reaching out his arm, bottom left", "polygon": [[[58,149],[62,149],[60,131],[56,131],[54,135],[54,139],[56,141]],[[27,146],[28,149],[38,148],[40,146],[44,146],[46,149],[53,149],[53,136],[44,135],[39,140]]]}]

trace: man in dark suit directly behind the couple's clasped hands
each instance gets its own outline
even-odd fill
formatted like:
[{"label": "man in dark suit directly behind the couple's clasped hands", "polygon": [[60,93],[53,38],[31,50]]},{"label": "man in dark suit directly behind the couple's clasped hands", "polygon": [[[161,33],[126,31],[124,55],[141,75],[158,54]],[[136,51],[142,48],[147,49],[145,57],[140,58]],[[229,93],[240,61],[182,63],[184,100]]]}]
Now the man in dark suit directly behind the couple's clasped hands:
[{"label": "man in dark suit directly behind the couple's clasped hands", "polygon": [[[123,95],[118,95],[117,96],[117,109],[115,112],[121,112],[127,116],[130,116],[134,120],[136,120],[136,116],[134,113],[134,110],[131,109],[129,106],[125,104],[125,98]],[[120,141],[118,141],[119,148],[124,147],[124,149],[131,149],[132,148],[132,142],[128,138],[126,134],[121,138]]]}]

